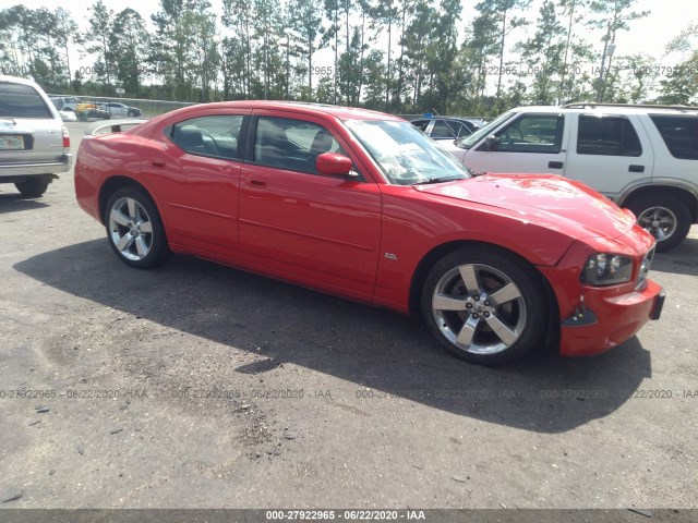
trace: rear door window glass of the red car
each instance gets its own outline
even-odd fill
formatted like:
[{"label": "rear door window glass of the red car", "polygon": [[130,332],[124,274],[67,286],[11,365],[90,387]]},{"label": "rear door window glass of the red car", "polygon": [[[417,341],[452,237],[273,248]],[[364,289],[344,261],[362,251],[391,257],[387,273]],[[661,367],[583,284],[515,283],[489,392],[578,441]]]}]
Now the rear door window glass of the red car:
[{"label": "rear door window glass of the red car", "polygon": [[227,114],[184,120],[172,126],[172,142],[191,155],[241,160],[242,120]]}]

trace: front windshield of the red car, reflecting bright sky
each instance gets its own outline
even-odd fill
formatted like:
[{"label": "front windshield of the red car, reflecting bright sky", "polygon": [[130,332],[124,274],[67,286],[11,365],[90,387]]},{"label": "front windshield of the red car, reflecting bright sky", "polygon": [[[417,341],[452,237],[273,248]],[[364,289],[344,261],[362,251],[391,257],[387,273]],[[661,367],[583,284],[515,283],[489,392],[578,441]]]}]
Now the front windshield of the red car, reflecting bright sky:
[{"label": "front windshield of the red car, reflecting bright sky", "polygon": [[390,183],[413,185],[462,180],[470,172],[408,122],[346,120]]}]

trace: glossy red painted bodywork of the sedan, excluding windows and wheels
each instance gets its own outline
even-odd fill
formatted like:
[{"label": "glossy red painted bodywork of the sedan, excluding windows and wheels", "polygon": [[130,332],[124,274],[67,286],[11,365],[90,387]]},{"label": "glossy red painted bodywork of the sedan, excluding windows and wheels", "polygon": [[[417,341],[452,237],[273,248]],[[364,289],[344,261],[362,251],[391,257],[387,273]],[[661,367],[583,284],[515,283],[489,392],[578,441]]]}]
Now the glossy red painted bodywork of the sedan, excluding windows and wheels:
[{"label": "glossy red painted bodywork of the sedan, excluding windows and wheels", "polygon": [[[362,178],[184,153],[167,130],[205,114],[273,115],[321,124]],[[490,174],[393,185],[342,124],[347,119],[399,121],[371,111],[284,102],[222,102],[173,111],[125,133],[83,139],[75,166],[77,202],[104,222],[105,184],[117,177],[130,179],[153,197],[177,253],[400,313],[410,312],[418,267],[432,251],[459,242],[498,245],[543,275],[561,321],[575,313],[580,296],[598,317],[587,327],[561,327],[564,355],[603,352],[650,319],[661,289],[651,280],[640,290],[635,287],[653,239],[629,211],[583,184],[552,175]],[[580,272],[597,252],[631,257],[633,281],[582,284]]]}]

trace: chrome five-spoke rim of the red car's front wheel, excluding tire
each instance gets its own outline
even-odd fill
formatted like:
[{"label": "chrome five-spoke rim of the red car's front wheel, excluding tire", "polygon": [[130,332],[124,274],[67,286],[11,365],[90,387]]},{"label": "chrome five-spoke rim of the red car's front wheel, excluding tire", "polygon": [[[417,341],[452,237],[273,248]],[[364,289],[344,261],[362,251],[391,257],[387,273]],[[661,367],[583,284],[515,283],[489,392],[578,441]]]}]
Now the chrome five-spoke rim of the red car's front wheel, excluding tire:
[{"label": "chrome five-spoke rim of the red car's front wheel, excluding tire", "polygon": [[444,337],[472,354],[506,351],[526,328],[521,291],[504,272],[483,264],[447,271],[434,288],[432,314]]}]

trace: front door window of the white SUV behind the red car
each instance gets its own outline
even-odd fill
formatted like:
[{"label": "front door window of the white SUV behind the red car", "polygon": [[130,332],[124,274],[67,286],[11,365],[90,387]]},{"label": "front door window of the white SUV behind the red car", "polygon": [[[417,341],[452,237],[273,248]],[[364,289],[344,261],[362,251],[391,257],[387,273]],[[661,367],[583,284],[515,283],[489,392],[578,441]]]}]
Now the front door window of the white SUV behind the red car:
[{"label": "front door window of the white SUV behind the red car", "polygon": [[500,131],[497,150],[503,153],[559,153],[565,118],[562,114],[524,115]]}]

